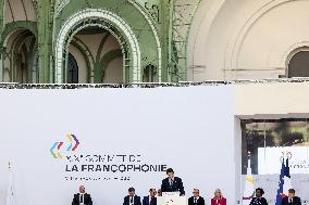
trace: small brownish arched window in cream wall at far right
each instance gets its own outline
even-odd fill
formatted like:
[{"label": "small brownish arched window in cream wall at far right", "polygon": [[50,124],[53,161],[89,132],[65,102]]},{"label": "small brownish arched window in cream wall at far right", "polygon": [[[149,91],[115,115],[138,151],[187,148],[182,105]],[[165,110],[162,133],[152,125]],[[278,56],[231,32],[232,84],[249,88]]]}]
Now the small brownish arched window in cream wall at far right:
[{"label": "small brownish arched window in cream wall at far right", "polygon": [[294,52],[288,62],[287,77],[309,77],[309,48]]}]

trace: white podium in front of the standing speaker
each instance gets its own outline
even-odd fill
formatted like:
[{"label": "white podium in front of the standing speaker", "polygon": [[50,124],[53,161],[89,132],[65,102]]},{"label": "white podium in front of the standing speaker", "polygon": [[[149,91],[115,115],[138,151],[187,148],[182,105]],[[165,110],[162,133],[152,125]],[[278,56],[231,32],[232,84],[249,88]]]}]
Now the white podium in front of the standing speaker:
[{"label": "white podium in front of the standing speaker", "polygon": [[157,197],[157,205],[187,205],[186,196],[180,196],[180,192],[163,192]]}]

